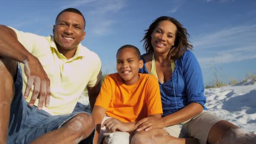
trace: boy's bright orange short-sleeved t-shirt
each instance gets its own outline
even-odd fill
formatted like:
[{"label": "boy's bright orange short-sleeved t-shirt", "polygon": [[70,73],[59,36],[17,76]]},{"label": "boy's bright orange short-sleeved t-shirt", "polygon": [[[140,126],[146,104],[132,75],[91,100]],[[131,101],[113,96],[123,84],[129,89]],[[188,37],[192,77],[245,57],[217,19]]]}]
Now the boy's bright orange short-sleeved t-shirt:
[{"label": "boy's bright orange short-sleeved t-shirt", "polygon": [[125,85],[118,73],[107,75],[95,106],[104,107],[107,116],[122,122],[163,114],[157,78],[149,74],[139,75],[139,81],[134,85]]}]

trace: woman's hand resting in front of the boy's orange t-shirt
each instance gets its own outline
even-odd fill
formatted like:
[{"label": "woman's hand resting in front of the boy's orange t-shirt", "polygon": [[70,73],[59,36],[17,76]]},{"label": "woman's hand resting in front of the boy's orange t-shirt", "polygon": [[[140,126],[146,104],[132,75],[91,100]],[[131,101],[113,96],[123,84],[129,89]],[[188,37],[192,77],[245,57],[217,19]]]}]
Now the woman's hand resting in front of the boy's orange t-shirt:
[{"label": "woman's hand resting in front of the boy's orange t-shirt", "polygon": [[164,121],[162,118],[156,118],[156,117],[145,117],[141,120],[139,120],[135,127],[138,127],[136,131],[149,131],[152,128],[163,128],[164,127]]}]

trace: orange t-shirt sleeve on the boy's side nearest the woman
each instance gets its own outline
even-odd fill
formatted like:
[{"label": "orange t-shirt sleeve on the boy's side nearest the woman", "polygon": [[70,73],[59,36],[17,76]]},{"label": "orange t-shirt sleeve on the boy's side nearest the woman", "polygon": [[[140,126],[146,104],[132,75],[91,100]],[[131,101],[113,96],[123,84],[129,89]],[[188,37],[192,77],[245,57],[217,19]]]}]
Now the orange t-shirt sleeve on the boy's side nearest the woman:
[{"label": "orange t-shirt sleeve on the boy's side nearest the woman", "polygon": [[151,76],[147,88],[148,115],[163,114],[160,88],[156,77]]}]

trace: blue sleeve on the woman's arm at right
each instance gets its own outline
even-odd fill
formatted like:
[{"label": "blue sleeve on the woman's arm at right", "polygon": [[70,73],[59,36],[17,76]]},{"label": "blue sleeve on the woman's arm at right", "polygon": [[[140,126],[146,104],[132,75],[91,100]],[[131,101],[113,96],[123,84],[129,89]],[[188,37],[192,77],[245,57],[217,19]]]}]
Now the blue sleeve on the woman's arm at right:
[{"label": "blue sleeve on the woman's arm at right", "polygon": [[204,107],[206,98],[204,95],[203,74],[200,65],[191,51],[186,51],[183,58],[183,75],[188,103],[196,102]]}]

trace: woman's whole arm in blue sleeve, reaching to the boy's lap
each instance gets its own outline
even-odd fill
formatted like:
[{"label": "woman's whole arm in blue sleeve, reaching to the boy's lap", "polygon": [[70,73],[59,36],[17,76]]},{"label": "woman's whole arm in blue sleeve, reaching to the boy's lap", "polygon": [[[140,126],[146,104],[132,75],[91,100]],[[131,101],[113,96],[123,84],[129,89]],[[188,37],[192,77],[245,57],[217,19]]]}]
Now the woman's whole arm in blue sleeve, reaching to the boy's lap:
[{"label": "woman's whole arm in blue sleeve, reaching to the boy's lap", "polygon": [[162,117],[161,119],[144,118],[136,123],[137,131],[145,129],[148,131],[152,128],[163,128],[170,125],[189,120],[203,111],[203,105],[206,102],[204,96],[203,76],[200,65],[194,54],[187,51],[182,56],[182,75],[186,88],[188,105],[177,112]]}]

